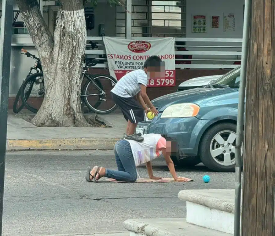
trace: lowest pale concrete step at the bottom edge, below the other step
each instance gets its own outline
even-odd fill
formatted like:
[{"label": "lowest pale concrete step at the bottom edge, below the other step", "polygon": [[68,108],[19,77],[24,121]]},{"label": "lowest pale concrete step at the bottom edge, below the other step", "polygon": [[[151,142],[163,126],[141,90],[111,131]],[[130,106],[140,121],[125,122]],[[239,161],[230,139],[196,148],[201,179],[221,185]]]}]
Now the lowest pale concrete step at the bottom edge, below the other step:
[{"label": "lowest pale concrete step at the bottom edge, below the other step", "polygon": [[130,231],[130,236],[230,236],[186,223],[186,218],[131,219],[124,221],[123,225]]}]

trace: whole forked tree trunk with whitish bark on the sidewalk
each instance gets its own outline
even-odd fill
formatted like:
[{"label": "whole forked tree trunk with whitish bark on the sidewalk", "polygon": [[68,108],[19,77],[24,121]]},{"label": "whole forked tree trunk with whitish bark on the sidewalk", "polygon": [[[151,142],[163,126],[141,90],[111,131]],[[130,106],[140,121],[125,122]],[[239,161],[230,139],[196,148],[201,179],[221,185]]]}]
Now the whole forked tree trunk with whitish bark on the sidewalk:
[{"label": "whole forked tree trunk with whitish bark on the sidewalk", "polygon": [[60,2],[53,37],[37,0],[17,0],[41,59],[45,82],[45,97],[32,123],[36,126],[89,126],[80,105],[87,36],[83,1]]}]

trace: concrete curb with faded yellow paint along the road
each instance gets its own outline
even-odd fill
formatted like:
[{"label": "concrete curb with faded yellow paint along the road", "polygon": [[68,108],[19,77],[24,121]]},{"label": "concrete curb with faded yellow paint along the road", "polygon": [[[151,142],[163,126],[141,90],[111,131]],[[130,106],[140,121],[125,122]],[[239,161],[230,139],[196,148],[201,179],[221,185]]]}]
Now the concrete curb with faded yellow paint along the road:
[{"label": "concrete curb with faded yellow paint along the road", "polygon": [[30,150],[113,150],[119,138],[7,140],[7,151]]}]

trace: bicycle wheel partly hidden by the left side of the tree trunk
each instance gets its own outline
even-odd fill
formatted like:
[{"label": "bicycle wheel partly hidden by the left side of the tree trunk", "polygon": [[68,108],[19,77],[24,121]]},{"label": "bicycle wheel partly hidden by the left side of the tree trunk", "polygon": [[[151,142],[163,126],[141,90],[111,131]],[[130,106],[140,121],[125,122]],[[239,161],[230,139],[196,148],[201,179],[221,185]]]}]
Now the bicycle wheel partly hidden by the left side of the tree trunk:
[{"label": "bicycle wheel partly hidden by the left side of the tree trunk", "polygon": [[[21,85],[21,99],[24,106],[31,112],[37,113],[45,94],[43,73],[29,75]],[[28,96],[27,96],[28,95]],[[34,102],[34,99],[38,102]]]}]

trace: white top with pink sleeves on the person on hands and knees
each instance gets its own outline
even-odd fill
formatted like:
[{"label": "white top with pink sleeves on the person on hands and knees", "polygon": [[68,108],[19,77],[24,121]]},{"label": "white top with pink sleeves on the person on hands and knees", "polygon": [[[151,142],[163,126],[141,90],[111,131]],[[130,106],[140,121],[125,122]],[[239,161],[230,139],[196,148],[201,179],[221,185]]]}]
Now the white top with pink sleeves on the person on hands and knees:
[{"label": "white top with pink sleeves on the person on hands and knees", "polygon": [[[160,148],[157,148],[157,143],[160,139],[165,139],[160,134],[144,134],[143,137],[142,142],[127,140],[130,143],[136,166],[150,162],[162,154]],[[166,144],[161,147],[164,146],[166,147]]]}]

